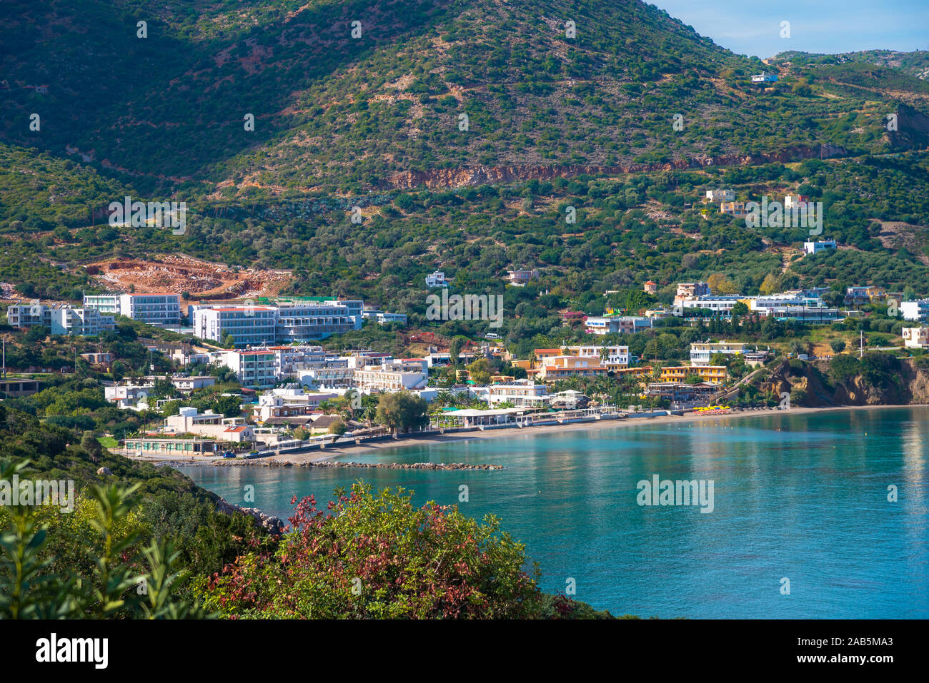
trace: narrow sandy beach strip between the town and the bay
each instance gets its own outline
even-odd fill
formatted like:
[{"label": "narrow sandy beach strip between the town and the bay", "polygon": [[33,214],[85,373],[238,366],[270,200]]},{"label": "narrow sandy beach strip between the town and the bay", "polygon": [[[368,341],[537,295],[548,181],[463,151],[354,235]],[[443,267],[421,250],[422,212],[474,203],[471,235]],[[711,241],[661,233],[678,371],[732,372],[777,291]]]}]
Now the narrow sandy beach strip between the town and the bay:
[{"label": "narrow sandy beach strip between the town and the bay", "polygon": [[391,439],[386,441],[378,441],[373,444],[365,445],[350,445],[344,448],[339,448],[337,451],[332,453],[312,453],[312,454],[293,454],[293,455],[281,455],[281,456],[268,456],[262,458],[255,458],[253,460],[235,460],[227,461],[222,465],[216,465],[214,462],[209,460],[195,460],[195,461],[169,461],[165,460],[164,464],[177,467],[229,467],[229,466],[239,466],[239,467],[249,467],[257,466],[267,467],[269,463],[275,463],[281,465],[282,463],[289,462],[293,465],[301,465],[305,463],[312,462],[321,462],[321,461],[331,461],[334,458],[356,456],[356,455],[371,455],[378,452],[392,452],[398,448],[409,448],[412,446],[421,446],[421,445],[443,445],[443,444],[457,444],[465,441],[472,441],[477,439],[500,439],[500,438],[524,438],[530,439],[536,434],[544,433],[554,433],[554,432],[578,432],[586,430],[601,430],[601,429],[617,429],[622,427],[635,427],[647,424],[674,424],[674,423],[692,423],[692,422],[718,422],[725,421],[727,419],[742,419],[742,418],[755,418],[755,417],[770,417],[773,415],[803,415],[809,413],[828,413],[828,412],[839,412],[844,410],[881,410],[888,408],[904,408],[904,407],[927,407],[924,404],[908,404],[902,406],[828,406],[828,407],[796,407],[790,408],[787,410],[780,410],[779,408],[765,408],[761,410],[748,410],[745,412],[739,413],[730,413],[728,415],[700,415],[697,413],[689,413],[684,416],[678,415],[667,415],[667,416],[658,416],[654,418],[624,418],[624,419],[605,419],[595,422],[573,422],[570,424],[564,425],[539,425],[536,427],[526,427],[520,429],[518,427],[504,427],[493,430],[480,431],[475,430],[474,432],[455,432],[451,434],[427,434],[423,436],[400,436],[398,439]]}]

